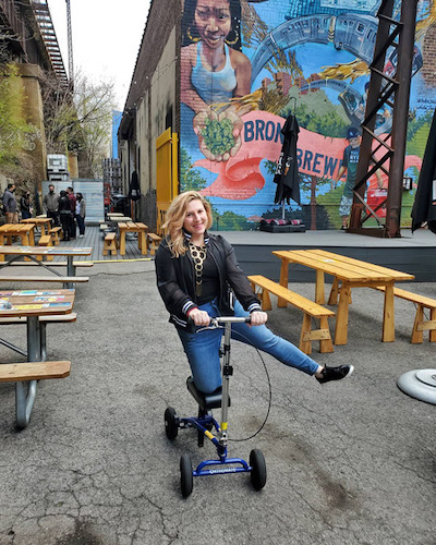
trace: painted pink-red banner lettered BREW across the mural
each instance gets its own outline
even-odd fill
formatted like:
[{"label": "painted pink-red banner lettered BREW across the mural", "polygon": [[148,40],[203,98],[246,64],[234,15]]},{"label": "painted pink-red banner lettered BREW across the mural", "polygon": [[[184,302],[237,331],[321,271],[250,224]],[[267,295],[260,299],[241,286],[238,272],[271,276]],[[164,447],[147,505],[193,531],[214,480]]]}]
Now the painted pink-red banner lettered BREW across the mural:
[{"label": "painted pink-red banner lettered BREW across the mural", "polygon": [[[241,147],[234,157],[227,161],[201,159],[194,167],[203,167],[218,174],[216,180],[202,194],[229,199],[245,199],[255,195],[265,185],[261,172],[261,161],[277,161],[282,145],[281,128],[284,119],[265,111],[252,111],[242,118]],[[298,147],[299,171],[316,178],[336,180],[343,150],[348,141],[322,136],[300,129]],[[383,150],[380,152],[383,154]],[[404,170],[410,167],[421,169],[420,157],[405,157]],[[388,166],[387,166],[388,168]],[[387,177],[382,172],[384,185]],[[370,179],[370,186],[376,186],[376,179]]]}]

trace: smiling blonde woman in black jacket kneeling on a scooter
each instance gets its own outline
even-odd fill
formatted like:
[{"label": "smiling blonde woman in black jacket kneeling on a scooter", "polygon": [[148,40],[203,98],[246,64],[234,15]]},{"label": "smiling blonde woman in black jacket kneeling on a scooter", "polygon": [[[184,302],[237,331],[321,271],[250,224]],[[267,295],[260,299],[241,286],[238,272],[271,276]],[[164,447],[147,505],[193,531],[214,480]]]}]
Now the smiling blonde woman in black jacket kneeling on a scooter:
[{"label": "smiling blonde woman in black jacket kneeling on a scooter", "polygon": [[[207,233],[211,226],[209,203],[195,191],[181,193],[167,211],[167,237],[156,254],[157,286],[170,313],[191,365],[196,387],[206,393],[221,386],[219,346],[221,329],[195,332],[210,317],[247,316],[252,326],[233,324],[232,338],[253,344],[291,367],[315,375],[319,383],[338,380],[353,372],[352,365],[322,367],[266,326],[267,314],[250,281],[239,267],[233,247],[220,235]],[[237,295],[234,312],[230,289]]]}]

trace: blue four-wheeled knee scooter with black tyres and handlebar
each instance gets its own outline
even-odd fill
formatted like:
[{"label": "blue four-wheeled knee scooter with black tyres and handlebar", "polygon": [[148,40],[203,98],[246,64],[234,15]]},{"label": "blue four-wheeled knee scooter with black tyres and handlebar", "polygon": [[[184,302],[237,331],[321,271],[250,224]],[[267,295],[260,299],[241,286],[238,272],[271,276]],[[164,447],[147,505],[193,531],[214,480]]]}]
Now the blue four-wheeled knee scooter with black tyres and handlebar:
[{"label": "blue four-wheeled knee scooter with black tyres and handlebar", "polygon": [[[220,350],[222,358],[222,387],[211,393],[203,393],[195,385],[192,377],[186,380],[186,386],[195,401],[198,403],[198,416],[179,417],[172,407],[165,411],[165,431],[170,440],[174,440],[179,428],[194,427],[197,429],[198,447],[203,447],[204,437],[207,437],[217,448],[218,459],[204,460],[195,470],[192,468],[190,455],[183,455],[180,459],[181,489],[183,497],[190,496],[193,488],[193,477],[204,475],[218,475],[223,473],[250,473],[251,482],[255,491],[261,491],[266,483],[265,458],[261,450],[253,449],[250,452],[250,463],[242,458],[228,458],[228,409],[230,407],[229,379],[233,374],[230,365],[230,338],[231,324],[237,322],[250,323],[250,317],[217,317],[211,318],[210,326],[220,327],[225,325],[223,343]],[[220,425],[214,419],[211,409],[221,407]],[[216,431],[216,435],[213,431]]]}]

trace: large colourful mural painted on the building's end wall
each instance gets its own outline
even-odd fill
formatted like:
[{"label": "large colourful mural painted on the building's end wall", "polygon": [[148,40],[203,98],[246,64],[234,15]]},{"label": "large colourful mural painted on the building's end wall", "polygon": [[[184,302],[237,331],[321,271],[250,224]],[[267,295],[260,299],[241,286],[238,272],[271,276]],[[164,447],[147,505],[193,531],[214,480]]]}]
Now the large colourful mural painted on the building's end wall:
[{"label": "large colourful mural painted on the building's end wall", "polygon": [[[344,223],[350,148],[359,146],[378,5],[378,0],[185,0],[180,185],[209,198],[214,229],[255,229],[263,218],[281,217],[274,178],[290,116],[300,125],[301,203],[291,201],[286,217],[303,220],[308,229]],[[393,17],[399,19],[397,4]],[[410,223],[436,107],[436,82],[428,75],[436,66],[424,70],[435,21],[436,3],[421,1],[404,172],[414,187],[403,194],[402,225]],[[388,50],[385,73],[393,74],[396,66],[396,51]],[[376,133],[390,130],[386,107],[377,113]],[[386,186],[384,172],[370,179],[371,206],[384,198]]]}]

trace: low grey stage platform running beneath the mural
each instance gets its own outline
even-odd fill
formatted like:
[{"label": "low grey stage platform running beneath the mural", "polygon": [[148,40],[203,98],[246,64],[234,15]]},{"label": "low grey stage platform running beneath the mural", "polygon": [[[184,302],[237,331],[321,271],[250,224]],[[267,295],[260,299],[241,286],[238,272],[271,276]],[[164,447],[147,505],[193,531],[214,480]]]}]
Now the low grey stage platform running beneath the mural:
[{"label": "low grey stage platform running beneath the mural", "polygon": [[[214,233],[222,234],[234,246],[245,274],[264,275],[276,281],[280,277],[280,259],[271,255],[274,250],[313,247],[410,272],[419,282],[436,281],[436,235],[427,229],[420,229],[413,234],[410,229],[402,229],[399,239],[379,239],[332,230],[304,233],[264,231],[214,231]],[[315,280],[315,271],[292,265],[289,280],[312,282]]]}]

